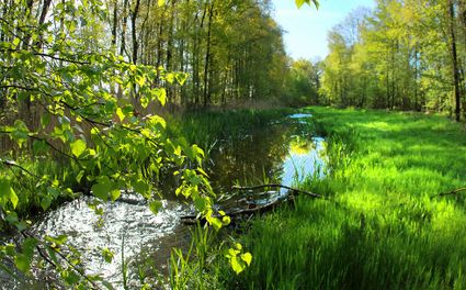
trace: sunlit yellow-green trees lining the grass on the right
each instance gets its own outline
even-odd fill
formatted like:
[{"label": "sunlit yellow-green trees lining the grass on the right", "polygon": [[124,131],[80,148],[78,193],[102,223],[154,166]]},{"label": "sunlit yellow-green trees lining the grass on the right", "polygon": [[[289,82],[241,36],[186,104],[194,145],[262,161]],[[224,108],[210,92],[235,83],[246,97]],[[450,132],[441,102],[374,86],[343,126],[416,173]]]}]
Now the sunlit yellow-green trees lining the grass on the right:
[{"label": "sunlit yellow-green trees lining the grass on the right", "polygon": [[340,105],[466,115],[465,1],[378,0],[329,34],[326,98]]}]

